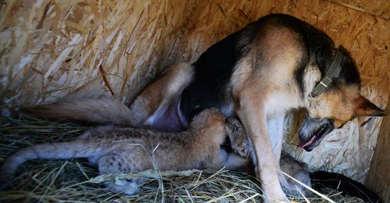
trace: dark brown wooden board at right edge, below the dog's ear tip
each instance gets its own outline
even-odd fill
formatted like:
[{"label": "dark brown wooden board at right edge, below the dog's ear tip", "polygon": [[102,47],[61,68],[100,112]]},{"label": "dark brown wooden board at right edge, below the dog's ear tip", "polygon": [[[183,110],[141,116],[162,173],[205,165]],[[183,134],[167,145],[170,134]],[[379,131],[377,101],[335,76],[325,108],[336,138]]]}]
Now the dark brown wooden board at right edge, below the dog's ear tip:
[{"label": "dark brown wooden board at right edge, below the dog's ear tip", "polygon": [[[390,99],[390,98],[389,98]],[[386,112],[390,112],[390,103],[387,103]],[[366,184],[369,189],[377,192],[383,202],[390,202],[390,117],[384,117],[381,131],[372,157],[371,168]]]}]

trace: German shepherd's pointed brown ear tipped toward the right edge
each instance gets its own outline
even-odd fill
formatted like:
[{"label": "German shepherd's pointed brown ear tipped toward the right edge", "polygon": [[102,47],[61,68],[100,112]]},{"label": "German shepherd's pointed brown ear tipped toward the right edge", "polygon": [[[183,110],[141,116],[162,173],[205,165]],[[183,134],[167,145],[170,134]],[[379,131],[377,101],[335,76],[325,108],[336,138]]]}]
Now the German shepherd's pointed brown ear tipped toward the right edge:
[{"label": "German shepherd's pointed brown ear tipped toward the right edge", "polygon": [[360,96],[354,102],[355,105],[355,115],[357,116],[385,116],[387,113],[384,110],[381,110],[377,105],[374,105],[372,102]]}]

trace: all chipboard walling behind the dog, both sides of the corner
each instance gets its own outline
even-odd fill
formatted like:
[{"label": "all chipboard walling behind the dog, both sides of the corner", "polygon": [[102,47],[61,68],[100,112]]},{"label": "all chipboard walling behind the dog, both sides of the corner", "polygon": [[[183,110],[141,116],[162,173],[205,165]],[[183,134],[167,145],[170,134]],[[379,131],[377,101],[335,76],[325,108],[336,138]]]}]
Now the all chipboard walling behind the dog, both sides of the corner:
[{"label": "all chipboard walling behind the dog, both sides of the corner", "polygon": [[[362,94],[386,107],[390,78],[387,0],[9,0],[0,3],[0,107],[106,96],[129,100],[176,61],[268,13],[288,13],[350,50]],[[6,113],[4,113],[6,114]],[[312,168],[364,181],[380,118],[355,119],[311,153],[296,148],[298,115],[286,120],[286,149]]]}]

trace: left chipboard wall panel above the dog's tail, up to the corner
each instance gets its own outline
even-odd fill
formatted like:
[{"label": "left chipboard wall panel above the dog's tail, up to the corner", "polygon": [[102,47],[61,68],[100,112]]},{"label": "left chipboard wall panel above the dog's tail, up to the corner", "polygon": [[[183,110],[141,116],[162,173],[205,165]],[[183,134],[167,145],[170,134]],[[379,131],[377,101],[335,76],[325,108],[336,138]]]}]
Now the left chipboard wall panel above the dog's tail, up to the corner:
[{"label": "left chipboard wall panel above the dog's tail, up to the corner", "polygon": [[170,63],[193,3],[2,2],[0,104],[135,95]]}]

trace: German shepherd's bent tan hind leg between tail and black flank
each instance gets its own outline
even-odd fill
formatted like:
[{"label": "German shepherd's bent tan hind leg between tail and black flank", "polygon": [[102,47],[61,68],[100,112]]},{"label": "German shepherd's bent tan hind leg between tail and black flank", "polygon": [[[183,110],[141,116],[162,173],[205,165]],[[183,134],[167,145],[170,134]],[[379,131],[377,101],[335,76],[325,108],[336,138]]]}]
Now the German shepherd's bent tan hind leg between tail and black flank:
[{"label": "German shepherd's bent tan hind leg between tail and black flank", "polygon": [[191,82],[194,69],[190,64],[170,66],[156,81],[150,83],[129,106],[135,115],[135,124],[152,125],[165,113],[174,99]]}]

